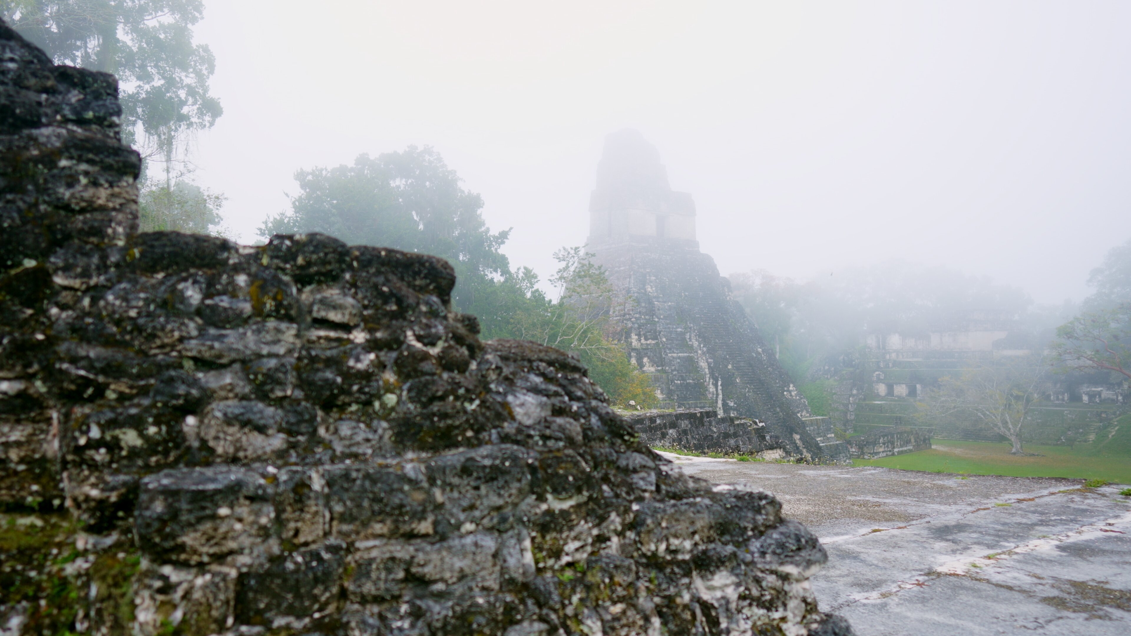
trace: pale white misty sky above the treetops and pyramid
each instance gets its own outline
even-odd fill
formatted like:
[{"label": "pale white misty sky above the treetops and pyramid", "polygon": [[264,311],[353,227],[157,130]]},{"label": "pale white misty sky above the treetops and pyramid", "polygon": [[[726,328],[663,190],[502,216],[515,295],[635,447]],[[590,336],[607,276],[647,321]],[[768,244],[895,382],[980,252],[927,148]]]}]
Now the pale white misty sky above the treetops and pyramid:
[{"label": "pale white misty sky above the treetops and pyramid", "polygon": [[1131,238],[1131,2],[206,5],[196,179],[245,242],[296,169],[431,145],[546,277],[625,127],[723,274],[896,258],[1059,302]]}]

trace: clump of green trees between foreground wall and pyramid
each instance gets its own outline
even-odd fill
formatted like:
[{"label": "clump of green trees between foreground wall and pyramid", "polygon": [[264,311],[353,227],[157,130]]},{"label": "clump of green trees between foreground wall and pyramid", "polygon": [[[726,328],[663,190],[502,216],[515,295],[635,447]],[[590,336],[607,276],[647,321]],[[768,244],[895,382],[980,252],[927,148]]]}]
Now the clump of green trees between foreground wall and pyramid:
[{"label": "clump of green trees between foreground wall and pyramid", "polygon": [[558,298],[547,298],[533,269],[511,270],[500,251],[510,231],[491,232],[483,199],[460,186],[434,149],[363,154],[353,165],[300,170],[295,179],[299,195],[288,212],[264,223],[259,234],[265,239],[322,232],[352,244],[446,258],[457,275],[452,304],[478,316],[485,340],[520,338],[561,349],[589,368],[614,405],[657,404],[647,376],[615,342],[608,321],[614,294],[604,270],[581,248],[563,248],[554,255],[560,268],[550,278]]}]

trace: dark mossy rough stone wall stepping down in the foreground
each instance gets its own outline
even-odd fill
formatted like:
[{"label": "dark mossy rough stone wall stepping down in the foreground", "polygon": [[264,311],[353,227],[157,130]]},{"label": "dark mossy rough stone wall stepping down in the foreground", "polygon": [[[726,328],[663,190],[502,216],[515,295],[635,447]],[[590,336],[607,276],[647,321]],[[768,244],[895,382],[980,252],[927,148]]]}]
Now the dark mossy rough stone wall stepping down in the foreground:
[{"label": "dark mossy rough stone wall stepping down in the foreground", "polygon": [[851,634],[446,261],[137,233],[116,93],[0,24],[0,633]]}]

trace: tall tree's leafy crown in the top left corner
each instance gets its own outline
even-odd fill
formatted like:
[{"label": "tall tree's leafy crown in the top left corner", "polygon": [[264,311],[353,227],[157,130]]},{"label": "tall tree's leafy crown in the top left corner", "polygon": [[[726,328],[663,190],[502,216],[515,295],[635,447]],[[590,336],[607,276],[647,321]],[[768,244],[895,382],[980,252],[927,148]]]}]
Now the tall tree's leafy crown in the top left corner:
[{"label": "tall tree's leafy crown in the top left corner", "polygon": [[8,0],[0,15],[55,63],[116,75],[127,141],[140,124],[166,160],[223,114],[208,87],[216,60],[192,42],[201,0]]}]

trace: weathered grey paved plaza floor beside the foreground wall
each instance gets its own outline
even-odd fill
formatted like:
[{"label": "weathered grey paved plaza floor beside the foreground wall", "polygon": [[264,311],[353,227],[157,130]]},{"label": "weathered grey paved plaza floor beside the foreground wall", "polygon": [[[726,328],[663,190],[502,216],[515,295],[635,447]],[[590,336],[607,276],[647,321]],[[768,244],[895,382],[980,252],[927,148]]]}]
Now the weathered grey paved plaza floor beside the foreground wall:
[{"label": "weathered grey paved plaza floor beside the foreground wall", "polygon": [[821,609],[860,636],[1131,635],[1123,487],[667,457],[776,495],[829,552]]}]

